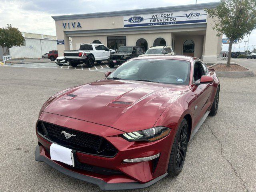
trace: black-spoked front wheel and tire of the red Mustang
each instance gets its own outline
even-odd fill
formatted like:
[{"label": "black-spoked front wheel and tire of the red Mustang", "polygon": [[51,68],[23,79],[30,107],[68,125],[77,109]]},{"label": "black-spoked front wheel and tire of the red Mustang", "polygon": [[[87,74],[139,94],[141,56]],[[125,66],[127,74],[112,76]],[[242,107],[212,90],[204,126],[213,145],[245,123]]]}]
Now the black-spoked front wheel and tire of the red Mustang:
[{"label": "black-spoked front wheel and tire of the red Mustang", "polygon": [[180,126],[176,132],[172,151],[170,154],[167,173],[170,177],[175,177],[180,174],[186,157],[188,147],[188,122],[182,119]]}]

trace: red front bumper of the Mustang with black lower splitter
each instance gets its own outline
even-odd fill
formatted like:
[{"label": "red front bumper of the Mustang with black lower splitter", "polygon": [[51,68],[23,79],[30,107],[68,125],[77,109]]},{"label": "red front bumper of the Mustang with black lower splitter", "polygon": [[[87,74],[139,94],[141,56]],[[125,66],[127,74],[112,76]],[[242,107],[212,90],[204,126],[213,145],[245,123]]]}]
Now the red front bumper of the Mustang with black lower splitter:
[{"label": "red front bumper of the Mustang with black lower splitter", "polygon": [[[46,112],[41,114],[40,120],[102,136],[118,150],[118,153],[112,158],[76,152],[76,159],[82,164],[116,170],[121,174],[106,175],[81,170],[76,166],[72,167],[62,162],[50,160],[49,149],[52,142],[37,133],[40,147],[38,146],[36,149],[36,160],[46,162],[64,174],[97,184],[102,190],[144,188],[167,175],[171,144],[176,134],[175,130],[171,130],[168,136],[156,142],[128,142],[118,136],[124,132],[114,128]],[[157,161],[123,162],[124,159],[147,157],[158,153],[160,153],[160,157]]]}]

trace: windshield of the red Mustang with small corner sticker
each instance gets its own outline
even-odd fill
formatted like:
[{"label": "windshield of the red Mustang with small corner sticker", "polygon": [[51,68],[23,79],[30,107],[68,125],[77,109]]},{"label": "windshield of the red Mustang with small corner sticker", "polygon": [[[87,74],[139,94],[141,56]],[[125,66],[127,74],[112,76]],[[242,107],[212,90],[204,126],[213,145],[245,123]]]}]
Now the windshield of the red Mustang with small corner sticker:
[{"label": "windshield of the red Mustang with small corner sticker", "polygon": [[112,72],[108,79],[188,85],[190,62],[167,59],[130,60]]}]

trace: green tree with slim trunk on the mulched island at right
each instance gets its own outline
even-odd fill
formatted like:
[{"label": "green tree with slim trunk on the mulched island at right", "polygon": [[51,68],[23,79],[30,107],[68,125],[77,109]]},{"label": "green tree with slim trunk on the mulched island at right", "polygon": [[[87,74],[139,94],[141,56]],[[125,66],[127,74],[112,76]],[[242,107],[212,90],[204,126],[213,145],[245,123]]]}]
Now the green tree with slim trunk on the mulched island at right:
[{"label": "green tree with slim trunk on the mulched island at right", "polygon": [[256,28],[256,0],[221,0],[214,9],[206,9],[208,16],[215,21],[213,29],[217,36],[224,34],[230,39],[228,46],[228,62],[234,40],[240,40]]}]

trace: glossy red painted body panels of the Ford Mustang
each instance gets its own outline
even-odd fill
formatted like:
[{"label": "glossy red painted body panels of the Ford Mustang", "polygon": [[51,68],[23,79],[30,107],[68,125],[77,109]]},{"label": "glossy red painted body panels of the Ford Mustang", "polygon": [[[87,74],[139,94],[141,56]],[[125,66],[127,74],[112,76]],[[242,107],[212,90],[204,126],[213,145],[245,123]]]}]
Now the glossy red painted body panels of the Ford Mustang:
[{"label": "glossy red painted body panels of the Ford Mustang", "polygon": [[[189,61],[191,64],[188,86],[135,82],[130,80],[98,80],[90,84],[63,90],[45,102],[40,110],[39,120],[58,126],[104,137],[113,144],[118,153],[106,158],[77,152],[76,158],[86,164],[119,170],[123,175],[101,175],[83,171],[61,162],[68,170],[104,180],[107,183],[140,182],[146,183],[166,173],[170,150],[181,120],[186,116],[190,133],[202,116],[212,105],[218,78],[214,70],[209,70],[205,80],[211,83],[196,85],[192,83],[194,62],[197,58],[187,56],[146,56],[137,59],[175,59]],[[67,94],[74,94],[68,98]],[[130,102],[124,107],[113,101]],[[195,110],[197,107],[199,110]],[[144,130],[156,126],[171,129],[168,136],[155,142],[129,142],[120,134]],[[50,158],[51,142],[38,133],[40,155]],[[160,153],[158,164],[153,170],[152,161],[123,163],[122,160],[152,156]]]}]

